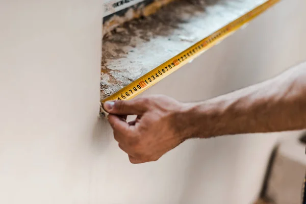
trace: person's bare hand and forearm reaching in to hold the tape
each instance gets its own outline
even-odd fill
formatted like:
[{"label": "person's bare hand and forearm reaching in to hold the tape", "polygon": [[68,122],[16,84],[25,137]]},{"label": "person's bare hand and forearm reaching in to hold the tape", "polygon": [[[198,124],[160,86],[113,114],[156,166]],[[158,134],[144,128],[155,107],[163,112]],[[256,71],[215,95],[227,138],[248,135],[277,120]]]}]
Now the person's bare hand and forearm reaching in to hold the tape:
[{"label": "person's bare hand and forearm reaching in to hold the tape", "polygon": [[[198,103],[163,95],[107,101],[119,147],[133,164],[156,161],[190,138],[306,129],[306,62],[275,78]],[[137,115],[126,122],[127,115]]]}]

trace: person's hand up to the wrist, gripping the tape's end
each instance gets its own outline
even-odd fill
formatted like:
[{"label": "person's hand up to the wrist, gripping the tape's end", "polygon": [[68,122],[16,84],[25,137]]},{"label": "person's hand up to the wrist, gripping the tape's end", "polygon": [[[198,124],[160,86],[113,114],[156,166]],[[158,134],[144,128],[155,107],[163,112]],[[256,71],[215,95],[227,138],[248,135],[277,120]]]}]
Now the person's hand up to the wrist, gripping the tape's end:
[{"label": "person's hand up to the wrist, gripping the tape's end", "polygon": [[[133,164],[156,161],[187,138],[180,120],[184,104],[170,97],[107,101],[104,109],[115,140]],[[137,118],[127,123],[127,115]]]}]

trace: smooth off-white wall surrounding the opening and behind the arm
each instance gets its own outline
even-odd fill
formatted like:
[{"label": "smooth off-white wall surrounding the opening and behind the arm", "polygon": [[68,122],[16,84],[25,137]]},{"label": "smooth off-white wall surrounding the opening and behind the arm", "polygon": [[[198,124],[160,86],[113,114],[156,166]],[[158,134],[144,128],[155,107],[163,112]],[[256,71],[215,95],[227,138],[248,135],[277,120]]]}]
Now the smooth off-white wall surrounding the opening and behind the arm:
[{"label": "smooth off-white wall surrounding the opening and behind the arm", "polygon": [[[97,118],[101,2],[0,4],[0,203],[251,203],[275,141],[297,134],[189,140],[130,164]],[[144,94],[203,100],[306,60],[305,8],[283,0]]]}]

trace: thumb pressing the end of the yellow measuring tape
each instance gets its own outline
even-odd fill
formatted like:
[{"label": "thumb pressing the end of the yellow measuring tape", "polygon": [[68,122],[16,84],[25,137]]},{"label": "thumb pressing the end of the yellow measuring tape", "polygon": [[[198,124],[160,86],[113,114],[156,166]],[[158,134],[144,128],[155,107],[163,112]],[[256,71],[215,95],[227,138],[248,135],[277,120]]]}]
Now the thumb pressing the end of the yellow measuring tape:
[{"label": "thumb pressing the end of the yellow measuring tape", "polygon": [[103,108],[114,115],[142,115],[146,111],[145,104],[139,100],[110,100]]}]

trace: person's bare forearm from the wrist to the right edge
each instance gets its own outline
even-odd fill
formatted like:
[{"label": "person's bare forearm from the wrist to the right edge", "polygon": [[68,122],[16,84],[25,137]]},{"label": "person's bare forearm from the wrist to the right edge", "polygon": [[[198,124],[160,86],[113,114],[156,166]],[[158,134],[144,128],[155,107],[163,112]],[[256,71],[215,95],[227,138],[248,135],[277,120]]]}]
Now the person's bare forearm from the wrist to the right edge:
[{"label": "person's bare forearm from the wrist to the right edge", "polygon": [[306,129],[306,63],[266,82],[186,107],[188,137]]}]

